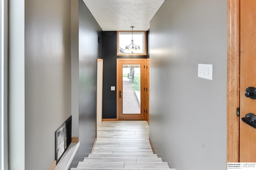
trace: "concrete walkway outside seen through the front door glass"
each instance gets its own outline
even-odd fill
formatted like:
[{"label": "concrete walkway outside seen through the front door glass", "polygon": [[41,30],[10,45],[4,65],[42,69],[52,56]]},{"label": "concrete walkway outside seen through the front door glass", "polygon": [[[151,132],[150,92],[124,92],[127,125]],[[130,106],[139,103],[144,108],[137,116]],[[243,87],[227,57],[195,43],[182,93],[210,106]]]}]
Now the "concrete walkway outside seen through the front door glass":
[{"label": "concrete walkway outside seen through the front door glass", "polygon": [[[140,98],[140,96],[138,96],[138,98]],[[127,77],[123,77],[123,113],[140,114],[140,103],[132,90],[130,79]]]}]

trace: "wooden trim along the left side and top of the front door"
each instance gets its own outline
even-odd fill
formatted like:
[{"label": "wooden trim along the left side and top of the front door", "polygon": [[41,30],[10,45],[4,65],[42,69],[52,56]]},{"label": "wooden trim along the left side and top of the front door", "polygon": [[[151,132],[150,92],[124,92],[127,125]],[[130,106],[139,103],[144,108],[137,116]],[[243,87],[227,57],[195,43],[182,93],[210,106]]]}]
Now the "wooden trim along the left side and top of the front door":
[{"label": "wooden trim along the left side and top of the front door", "polygon": [[[118,93],[118,87],[119,87],[119,69],[118,65],[120,61],[144,61],[144,65],[146,63],[146,59],[116,59],[116,120],[119,121],[119,105],[118,105],[118,100],[119,100],[119,93]],[[144,71],[144,76],[146,76],[146,72]],[[145,83],[144,83],[145,84]],[[145,96],[144,96],[145,97]]]}]

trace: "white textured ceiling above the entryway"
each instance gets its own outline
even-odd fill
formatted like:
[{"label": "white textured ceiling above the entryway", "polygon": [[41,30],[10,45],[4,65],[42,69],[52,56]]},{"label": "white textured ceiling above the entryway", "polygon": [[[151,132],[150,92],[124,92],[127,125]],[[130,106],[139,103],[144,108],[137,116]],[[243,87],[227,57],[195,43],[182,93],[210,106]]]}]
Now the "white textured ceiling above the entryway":
[{"label": "white textured ceiling above the entryway", "polygon": [[103,31],[147,31],[164,0],[84,0]]}]

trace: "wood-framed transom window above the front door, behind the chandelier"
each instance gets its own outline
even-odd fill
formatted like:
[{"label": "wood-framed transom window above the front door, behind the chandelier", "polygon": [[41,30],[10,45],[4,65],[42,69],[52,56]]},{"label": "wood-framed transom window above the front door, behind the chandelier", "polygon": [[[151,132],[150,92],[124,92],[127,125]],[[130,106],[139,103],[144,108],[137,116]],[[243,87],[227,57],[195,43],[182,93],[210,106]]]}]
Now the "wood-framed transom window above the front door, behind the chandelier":
[{"label": "wood-framed transom window above the front door, behind the chandelier", "polygon": [[117,55],[146,55],[146,31],[117,31]]}]

